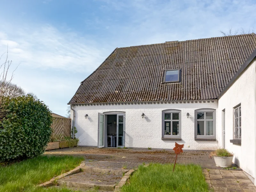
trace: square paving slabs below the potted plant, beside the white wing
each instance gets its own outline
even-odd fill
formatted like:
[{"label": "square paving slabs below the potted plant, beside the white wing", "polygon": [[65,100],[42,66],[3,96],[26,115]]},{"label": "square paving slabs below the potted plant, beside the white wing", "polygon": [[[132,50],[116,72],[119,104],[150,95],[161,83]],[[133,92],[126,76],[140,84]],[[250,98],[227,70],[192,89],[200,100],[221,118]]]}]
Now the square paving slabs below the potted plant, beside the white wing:
[{"label": "square paving slabs below the potted plant, beside the white wing", "polygon": [[243,171],[203,169],[206,182],[214,192],[255,192],[256,187]]}]

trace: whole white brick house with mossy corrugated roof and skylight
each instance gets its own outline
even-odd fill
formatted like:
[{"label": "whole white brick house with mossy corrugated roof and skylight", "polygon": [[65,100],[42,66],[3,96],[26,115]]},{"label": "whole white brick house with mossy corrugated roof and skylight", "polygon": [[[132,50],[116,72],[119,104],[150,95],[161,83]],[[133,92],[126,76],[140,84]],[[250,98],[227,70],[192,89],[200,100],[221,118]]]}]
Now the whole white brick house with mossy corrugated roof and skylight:
[{"label": "whole white brick house with mossy corrugated roof and skylight", "polygon": [[254,178],[255,49],[254,33],[116,48],[68,103],[79,145],[222,147]]}]

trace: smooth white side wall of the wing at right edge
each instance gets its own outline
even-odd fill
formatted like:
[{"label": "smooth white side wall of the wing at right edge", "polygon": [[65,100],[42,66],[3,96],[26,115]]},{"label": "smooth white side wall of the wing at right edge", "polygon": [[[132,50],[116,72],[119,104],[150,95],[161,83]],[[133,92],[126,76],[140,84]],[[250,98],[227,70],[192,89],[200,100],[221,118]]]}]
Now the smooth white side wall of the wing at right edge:
[{"label": "smooth white side wall of the wing at right edge", "polygon": [[[255,177],[255,117],[256,117],[256,59],[236,79],[219,99],[218,134],[222,139],[222,110],[225,109],[225,148],[234,153],[233,162]],[[242,144],[233,139],[233,108],[241,103]]]}]

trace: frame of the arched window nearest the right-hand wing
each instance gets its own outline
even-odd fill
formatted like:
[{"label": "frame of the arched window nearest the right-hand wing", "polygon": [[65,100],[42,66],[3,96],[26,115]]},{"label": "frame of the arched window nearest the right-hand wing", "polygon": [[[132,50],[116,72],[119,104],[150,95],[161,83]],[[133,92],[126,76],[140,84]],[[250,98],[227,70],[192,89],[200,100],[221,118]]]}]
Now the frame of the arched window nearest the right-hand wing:
[{"label": "frame of the arched window nearest the right-hand wing", "polygon": [[[197,113],[204,113],[204,119],[197,119]],[[207,112],[213,112],[213,119],[206,119]],[[197,135],[197,121],[204,121],[204,135]],[[206,121],[213,121],[213,135],[205,135],[206,134]],[[202,108],[195,110],[195,138],[211,138],[216,139],[216,109],[211,108]]]}]

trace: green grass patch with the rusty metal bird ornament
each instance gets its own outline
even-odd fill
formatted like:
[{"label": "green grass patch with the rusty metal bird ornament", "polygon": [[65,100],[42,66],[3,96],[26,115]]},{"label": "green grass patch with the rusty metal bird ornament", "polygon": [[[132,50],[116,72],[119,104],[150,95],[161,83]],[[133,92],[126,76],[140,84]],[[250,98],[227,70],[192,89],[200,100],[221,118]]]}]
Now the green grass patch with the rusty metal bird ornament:
[{"label": "green grass patch with the rusty metal bird ornament", "polygon": [[142,165],[134,172],[129,184],[122,187],[122,192],[205,192],[208,184],[204,180],[202,169],[195,164]]}]

